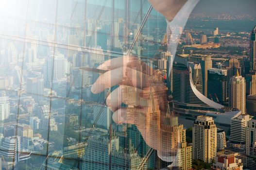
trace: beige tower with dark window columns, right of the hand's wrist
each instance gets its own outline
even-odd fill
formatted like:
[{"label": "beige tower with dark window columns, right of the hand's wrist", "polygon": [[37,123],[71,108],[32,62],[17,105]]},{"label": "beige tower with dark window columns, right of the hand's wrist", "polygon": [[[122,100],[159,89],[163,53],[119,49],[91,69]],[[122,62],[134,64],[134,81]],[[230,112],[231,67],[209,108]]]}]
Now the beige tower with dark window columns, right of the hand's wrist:
[{"label": "beige tower with dark window columns, right of the hand's wrist", "polygon": [[193,126],[193,159],[211,163],[217,152],[217,128],[211,117],[198,116]]}]

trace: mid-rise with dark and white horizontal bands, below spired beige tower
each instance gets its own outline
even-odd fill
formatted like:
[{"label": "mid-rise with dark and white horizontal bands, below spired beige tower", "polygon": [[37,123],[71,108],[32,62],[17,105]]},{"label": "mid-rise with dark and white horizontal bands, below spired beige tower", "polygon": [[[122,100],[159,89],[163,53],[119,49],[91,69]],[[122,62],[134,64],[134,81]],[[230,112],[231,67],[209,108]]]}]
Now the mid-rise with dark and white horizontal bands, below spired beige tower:
[{"label": "mid-rise with dark and white horizontal bands, below spired beige tower", "polygon": [[231,119],[230,137],[227,141],[227,147],[245,147],[245,131],[249,120],[249,115],[241,115],[238,118]]}]

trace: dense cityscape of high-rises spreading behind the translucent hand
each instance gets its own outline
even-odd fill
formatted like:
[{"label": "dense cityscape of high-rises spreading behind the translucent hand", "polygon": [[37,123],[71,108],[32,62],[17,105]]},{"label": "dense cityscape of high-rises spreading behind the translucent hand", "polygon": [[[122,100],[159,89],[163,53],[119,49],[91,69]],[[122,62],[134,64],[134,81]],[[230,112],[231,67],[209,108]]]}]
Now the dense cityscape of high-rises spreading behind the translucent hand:
[{"label": "dense cityscape of high-rises spreading behind the translucent hand", "polygon": [[[72,5],[81,10],[84,3]],[[85,15],[68,25],[0,20],[7,27],[7,20],[25,23],[0,28],[0,170],[256,170],[256,27],[177,28],[182,36],[173,56],[164,18],[149,16],[141,29],[145,12],[126,6],[122,13]],[[113,121],[106,98],[118,85],[92,93],[101,73],[89,69],[127,51],[154,77],[137,92],[147,103],[137,108],[144,116],[127,112],[133,124]],[[133,76],[142,88],[141,75]],[[163,161],[175,147],[175,160]]]}]

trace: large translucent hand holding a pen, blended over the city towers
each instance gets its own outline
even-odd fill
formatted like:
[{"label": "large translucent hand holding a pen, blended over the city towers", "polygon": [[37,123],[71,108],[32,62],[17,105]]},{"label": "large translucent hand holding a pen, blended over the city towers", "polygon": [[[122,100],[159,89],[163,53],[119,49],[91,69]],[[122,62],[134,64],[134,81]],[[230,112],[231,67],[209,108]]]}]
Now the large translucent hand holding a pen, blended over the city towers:
[{"label": "large translucent hand holding a pen, blended over the city towers", "polygon": [[[158,155],[175,156],[180,134],[174,132],[175,128],[163,129],[169,105],[167,87],[161,75],[135,56],[108,60],[98,69],[108,71],[96,80],[93,93],[119,85],[106,99],[113,120],[118,124],[135,124],[145,142],[157,150]],[[127,107],[121,107],[122,103]]]}]

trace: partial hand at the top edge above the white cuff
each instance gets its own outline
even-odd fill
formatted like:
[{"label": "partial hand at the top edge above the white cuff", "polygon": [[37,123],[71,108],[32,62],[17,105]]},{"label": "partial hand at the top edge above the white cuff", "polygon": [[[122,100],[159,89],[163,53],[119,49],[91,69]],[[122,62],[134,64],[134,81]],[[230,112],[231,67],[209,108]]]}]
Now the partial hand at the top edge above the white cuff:
[{"label": "partial hand at the top edge above the white cuff", "polygon": [[154,9],[171,21],[188,0],[149,0]]}]

